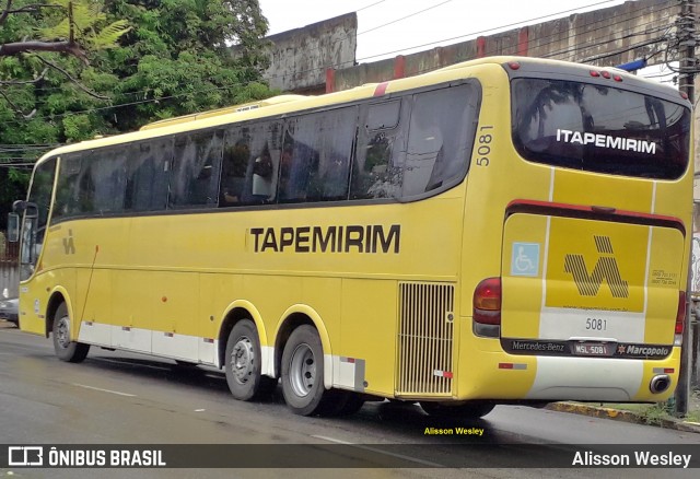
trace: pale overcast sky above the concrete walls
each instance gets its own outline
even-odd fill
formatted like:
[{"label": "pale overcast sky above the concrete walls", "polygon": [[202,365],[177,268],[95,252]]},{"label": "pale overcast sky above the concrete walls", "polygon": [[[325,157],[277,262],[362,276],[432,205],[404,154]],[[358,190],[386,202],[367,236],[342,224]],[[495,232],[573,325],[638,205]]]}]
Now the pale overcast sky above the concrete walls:
[{"label": "pale overcast sky above the concrete walls", "polygon": [[465,42],[616,0],[259,0],[268,35],[358,12],[358,62]]}]

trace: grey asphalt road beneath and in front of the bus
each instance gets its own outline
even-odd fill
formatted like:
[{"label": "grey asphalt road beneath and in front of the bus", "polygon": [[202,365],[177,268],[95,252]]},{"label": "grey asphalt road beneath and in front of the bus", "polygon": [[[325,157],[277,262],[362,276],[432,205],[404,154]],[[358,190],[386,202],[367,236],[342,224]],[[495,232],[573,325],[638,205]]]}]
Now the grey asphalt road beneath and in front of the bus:
[{"label": "grey asphalt road beneath and in front of the bus", "polygon": [[[472,433],[427,433],[431,428],[464,428]],[[482,430],[480,435],[478,430]],[[619,479],[655,478],[662,472],[509,468],[517,460],[547,466],[552,457],[571,457],[572,451],[604,453],[610,447],[600,444],[661,444],[669,449],[690,444],[698,452],[692,460],[700,464],[700,434],[527,407],[500,406],[479,421],[439,421],[417,405],[385,401],[365,404],[350,418],[302,418],[288,411],[279,390],[266,401],[234,400],[217,370],[183,369],[171,361],[95,348],[85,362],[68,364],[54,357],[50,340],[0,327],[0,445],[13,444],[191,444],[183,449],[184,455],[200,454],[207,447],[195,445],[211,444],[231,448],[231,454],[252,460],[244,463],[255,468],[0,468],[0,477],[237,478],[279,477],[282,472],[338,479]],[[545,446],[532,449],[533,444]],[[280,456],[295,467],[285,468],[288,463],[280,462]],[[529,462],[533,458],[535,463]],[[319,465],[334,470],[317,468]],[[358,468],[368,465],[372,468]],[[663,475],[697,477],[697,470],[664,469]]]}]

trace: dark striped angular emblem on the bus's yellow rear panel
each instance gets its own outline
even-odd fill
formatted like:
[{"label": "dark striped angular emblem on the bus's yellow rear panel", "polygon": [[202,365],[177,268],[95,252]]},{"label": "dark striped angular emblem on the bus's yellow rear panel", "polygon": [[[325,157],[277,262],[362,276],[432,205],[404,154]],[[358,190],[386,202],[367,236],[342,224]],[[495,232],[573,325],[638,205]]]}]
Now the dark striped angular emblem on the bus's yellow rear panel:
[{"label": "dark striped angular emblem on the bus's yellow rear panel", "polygon": [[593,272],[588,273],[583,255],[573,254],[564,257],[564,272],[573,277],[579,294],[582,296],[596,296],[605,280],[612,297],[629,297],[628,282],[620,276],[620,269],[612,253],[612,242],[608,236],[594,236],[593,240],[599,255]]}]

